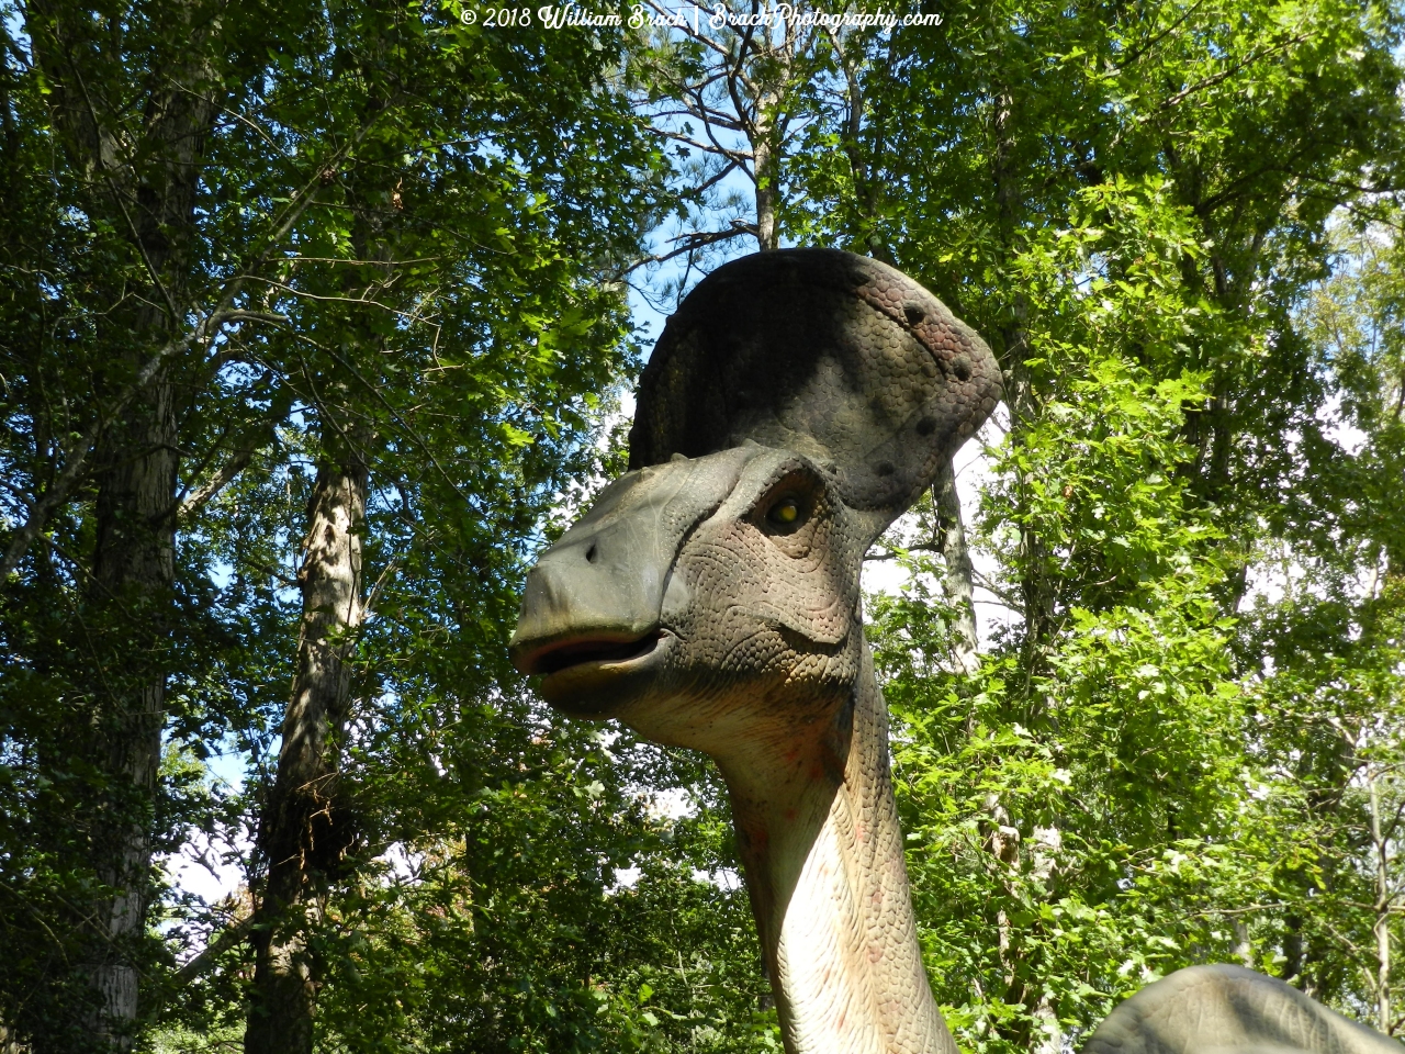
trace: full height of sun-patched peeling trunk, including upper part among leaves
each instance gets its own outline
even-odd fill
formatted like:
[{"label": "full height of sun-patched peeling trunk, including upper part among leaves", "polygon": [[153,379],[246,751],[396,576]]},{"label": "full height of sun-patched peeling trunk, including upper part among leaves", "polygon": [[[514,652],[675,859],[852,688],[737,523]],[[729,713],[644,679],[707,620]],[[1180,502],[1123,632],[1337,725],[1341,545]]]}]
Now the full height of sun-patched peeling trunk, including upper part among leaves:
[{"label": "full height of sun-patched peeling trunk, including upper part among leaves", "polygon": [[[386,24],[393,4],[372,3]],[[391,91],[378,80],[393,69],[388,41],[372,37],[364,52],[347,52],[358,65],[370,91],[362,121],[389,104]],[[398,205],[385,186],[395,162],[361,157],[362,167],[344,177],[351,214],[353,259],[375,260],[375,267],[348,267],[339,292],[347,302],[375,301],[378,285],[395,274],[395,215]],[[340,780],[340,741],[351,700],[353,655],[365,618],[362,597],[362,540],[370,465],[367,445],[374,438],[353,398],[364,375],[348,363],[375,363],[386,351],[377,319],[381,309],[353,306],[344,319],[339,356],[330,374],[312,385],[319,408],[322,457],[308,499],[308,533],[298,572],[302,621],[282,746],[273,790],[259,825],[256,859],[267,873],[257,898],[251,942],[254,984],[249,995],[246,1054],[311,1054],[320,985],[319,964],[309,936],[320,920],[329,880],[344,867],[355,839],[353,811]],[[372,371],[375,367],[370,367]],[[319,391],[320,389],[320,391]]]}]

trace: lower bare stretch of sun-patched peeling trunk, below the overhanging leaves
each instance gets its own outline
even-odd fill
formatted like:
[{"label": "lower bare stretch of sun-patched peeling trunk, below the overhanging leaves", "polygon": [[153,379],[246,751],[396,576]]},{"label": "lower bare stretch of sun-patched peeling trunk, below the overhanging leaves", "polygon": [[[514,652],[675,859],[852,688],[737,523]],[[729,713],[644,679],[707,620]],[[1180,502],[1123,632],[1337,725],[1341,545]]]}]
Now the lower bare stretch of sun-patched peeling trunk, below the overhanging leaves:
[{"label": "lower bare stretch of sun-patched peeling trunk, below the overhanging leaves", "polygon": [[[332,431],[327,426],[326,431]],[[343,450],[318,468],[303,541],[302,625],[282,748],[259,828],[267,866],[256,913],[254,985],[246,1054],[311,1054],[316,1002],[308,925],[325,880],[348,842],[337,788],[337,741],[351,690],[351,653],[362,620],[361,527],[367,467]]]}]

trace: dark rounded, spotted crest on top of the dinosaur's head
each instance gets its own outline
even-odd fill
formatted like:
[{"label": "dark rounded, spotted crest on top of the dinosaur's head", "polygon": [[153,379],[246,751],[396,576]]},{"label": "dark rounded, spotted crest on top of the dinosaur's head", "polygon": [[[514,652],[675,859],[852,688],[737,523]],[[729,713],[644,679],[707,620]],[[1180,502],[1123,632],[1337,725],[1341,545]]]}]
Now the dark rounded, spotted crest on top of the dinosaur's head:
[{"label": "dark rounded, spotted crest on top of the dinosaur's head", "polygon": [[629,468],[754,440],[833,462],[877,523],[989,416],[995,357],[901,271],[835,249],[719,267],[669,319],[639,381]]}]

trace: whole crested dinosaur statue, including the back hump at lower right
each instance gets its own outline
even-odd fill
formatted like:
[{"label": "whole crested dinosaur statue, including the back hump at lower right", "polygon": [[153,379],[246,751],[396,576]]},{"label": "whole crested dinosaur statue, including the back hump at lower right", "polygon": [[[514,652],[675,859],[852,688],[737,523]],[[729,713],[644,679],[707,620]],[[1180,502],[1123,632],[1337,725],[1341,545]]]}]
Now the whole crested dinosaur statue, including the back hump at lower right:
[{"label": "whole crested dinosaur statue, including the back hump at lower right", "polygon": [[[790,1054],[955,1054],[913,922],[865,549],[1000,395],[995,357],[885,264],[718,268],[639,385],[629,472],[527,579],[511,642],[558,710],[705,750],[726,780]],[[1401,1054],[1280,981],[1183,970],[1087,1054]]]}]

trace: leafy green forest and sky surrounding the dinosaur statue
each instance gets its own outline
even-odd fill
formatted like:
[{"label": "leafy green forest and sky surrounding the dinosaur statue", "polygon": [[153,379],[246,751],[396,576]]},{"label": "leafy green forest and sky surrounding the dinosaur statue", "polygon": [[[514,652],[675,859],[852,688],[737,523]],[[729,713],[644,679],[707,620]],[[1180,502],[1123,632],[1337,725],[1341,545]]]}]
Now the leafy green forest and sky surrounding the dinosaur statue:
[{"label": "leafy green forest and sky surrounding the dinosaur statue", "polygon": [[6,1054],[778,1050],[711,766],[504,645],[639,322],[790,245],[1006,374],[870,554],[961,1048],[1205,961],[1405,1027],[1398,3],[0,7]]}]

